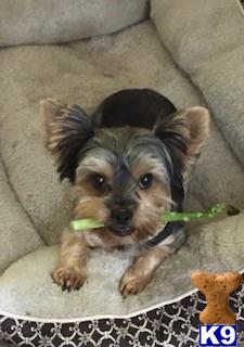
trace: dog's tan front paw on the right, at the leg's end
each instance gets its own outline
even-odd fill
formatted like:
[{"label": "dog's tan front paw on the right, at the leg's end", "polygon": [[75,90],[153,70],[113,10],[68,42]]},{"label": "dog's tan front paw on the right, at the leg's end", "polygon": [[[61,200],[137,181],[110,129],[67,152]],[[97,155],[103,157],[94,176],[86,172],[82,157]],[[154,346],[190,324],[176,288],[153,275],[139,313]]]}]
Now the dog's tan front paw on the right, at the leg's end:
[{"label": "dog's tan front paw on the right, at the leg's end", "polygon": [[119,283],[119,291],[123,297],[126,297],[127,295],[136,295],[144,290],[150,280],[150,275],[140,275],[137,274],[133,269],[130,269],[121,278]]}]

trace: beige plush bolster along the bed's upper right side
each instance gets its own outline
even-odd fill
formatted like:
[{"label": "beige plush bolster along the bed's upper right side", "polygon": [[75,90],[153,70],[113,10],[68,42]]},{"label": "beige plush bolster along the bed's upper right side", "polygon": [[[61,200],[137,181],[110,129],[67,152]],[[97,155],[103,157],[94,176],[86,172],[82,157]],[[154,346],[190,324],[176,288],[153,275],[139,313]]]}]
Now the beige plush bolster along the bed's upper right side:
[{"label": "beige plush bolster along the bed's upper right side", "polygon": [[[239,0],[152,0],[151,17],[244,167],[244,15]],[[228,166],[228,165],[224,165]]]}]

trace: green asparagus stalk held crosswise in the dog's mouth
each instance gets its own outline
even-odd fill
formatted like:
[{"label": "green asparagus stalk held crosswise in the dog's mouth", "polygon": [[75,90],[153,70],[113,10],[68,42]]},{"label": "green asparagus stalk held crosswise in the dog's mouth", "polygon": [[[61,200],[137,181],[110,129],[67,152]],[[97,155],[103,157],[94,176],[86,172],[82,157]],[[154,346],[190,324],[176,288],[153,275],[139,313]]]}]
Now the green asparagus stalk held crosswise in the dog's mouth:
[{"label": "green asparagus stalk held crosswise in the dog's mouth", "polygon": [[[206,211],[196,211],[196,213],[175,213],[175,211],[164,211],[160,215],[163,221],[191,221],[201,218],[213,218],[219,214],[227,213],[229,216],[234,216],[239,210],[234,207],[227,206],[224,203],[215,205],[214,207],[207,209]],[[104,227],[103,223],[95,221],[93,219],[78,219],[70,222],[70,227],[74,231],[84,231],[88,229],[98,229]]]}]

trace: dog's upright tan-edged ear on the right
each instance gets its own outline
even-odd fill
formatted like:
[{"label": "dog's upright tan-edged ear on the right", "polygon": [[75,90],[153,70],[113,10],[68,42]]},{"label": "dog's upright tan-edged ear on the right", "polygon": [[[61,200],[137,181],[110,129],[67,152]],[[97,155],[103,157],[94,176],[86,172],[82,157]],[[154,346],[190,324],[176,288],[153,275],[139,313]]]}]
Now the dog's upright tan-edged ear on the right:
[{"label": "dog's upright tan-edged ear on the right", "polygon": [[180,159],[185,172],[208,138],[209,112],[205,107],[191,107],[159,117],[154,133],[166,144],[170,154]]}]

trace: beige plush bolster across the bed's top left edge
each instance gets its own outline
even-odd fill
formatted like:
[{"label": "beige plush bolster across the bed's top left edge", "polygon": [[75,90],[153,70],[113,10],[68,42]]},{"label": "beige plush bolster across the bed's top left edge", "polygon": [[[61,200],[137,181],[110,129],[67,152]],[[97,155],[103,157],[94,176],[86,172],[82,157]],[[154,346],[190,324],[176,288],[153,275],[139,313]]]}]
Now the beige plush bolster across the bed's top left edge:
[{"label": "beige plush bolster across the bed's top left edge", "polygon": [[0,47],[112,34],[147,16],[147,0],[2,0]]}]

